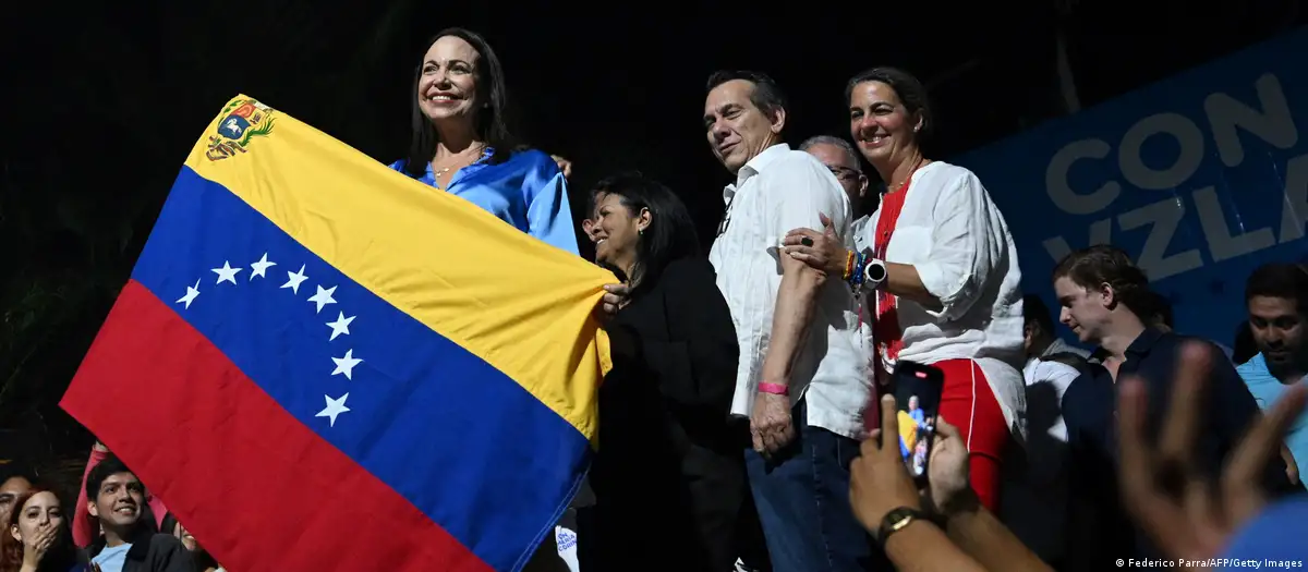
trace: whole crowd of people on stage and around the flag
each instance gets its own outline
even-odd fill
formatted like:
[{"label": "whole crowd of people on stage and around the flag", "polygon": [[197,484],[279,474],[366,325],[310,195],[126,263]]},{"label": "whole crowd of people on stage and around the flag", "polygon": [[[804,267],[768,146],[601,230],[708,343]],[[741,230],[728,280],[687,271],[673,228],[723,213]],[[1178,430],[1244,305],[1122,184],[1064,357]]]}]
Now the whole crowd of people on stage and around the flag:
[{"label": "whole crowd of people on stage and around the flag", "polygon": [[[513,138],[481,37],[439,33],[413,90],[412,145],[391,168],[578,252],[570,163]],[[791,149],[772,78],[709,78],[705,138],[734,180],[706,257],[658,182],[616,174],[587,195],[582,235],[620,281],[596,307],[615,366],[587,487],[560,522],[574,535],[545,538],[527,568],[1080,571],[1228,547],[1303,558],[1286,538],[1304,529],[1290,495],[1308,458],[1308,268],[1256,270],[1244,341],[1226,350],[1172,332],[1167,300],[1121,249],[1073,252],[1041,279],[1058,321],[1095,347],[1083,350],[1024,295],[982,182],[923,153],[937,128],[923,85],[872,68],[844,95],[849,140]],[[878,206],[863,214],[869,195]],[[878,439],[922,421],[895,404],[901,362],[943,377],[923,490],[904,462],[916,440]],[[99,444],[71,518],[35,477],[5,477],[0,572],[222,569]]]}]

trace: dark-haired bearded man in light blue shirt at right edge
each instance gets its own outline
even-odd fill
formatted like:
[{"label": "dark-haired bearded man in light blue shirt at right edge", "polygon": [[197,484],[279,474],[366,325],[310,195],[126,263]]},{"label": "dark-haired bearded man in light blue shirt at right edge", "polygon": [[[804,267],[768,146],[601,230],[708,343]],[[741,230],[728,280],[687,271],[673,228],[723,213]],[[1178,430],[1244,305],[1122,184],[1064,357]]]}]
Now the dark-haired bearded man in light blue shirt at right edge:
[{"label": "dark-haired bearded man in light blue shirt at right edge", "polygon": [[[1236,372],[1266,411],[1308,375],[1308,270],[1296,264],[1257,268],[1245,282],[1244,303],[1258,354]],[[1299,462],[1308,464],[1308,415],[1286,434],[1282,458],[1290,481],[1299,483]]]}]

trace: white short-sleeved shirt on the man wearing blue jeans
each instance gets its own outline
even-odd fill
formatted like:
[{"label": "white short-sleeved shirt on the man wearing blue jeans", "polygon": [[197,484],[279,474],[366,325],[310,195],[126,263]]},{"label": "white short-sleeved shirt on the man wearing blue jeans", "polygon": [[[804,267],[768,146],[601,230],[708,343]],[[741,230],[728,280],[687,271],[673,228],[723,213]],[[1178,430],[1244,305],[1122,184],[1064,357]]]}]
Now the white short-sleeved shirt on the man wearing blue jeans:
[{"label": "white short-sleeved shirt on the man wearing blue jeans", "polygon": [[[748,417],[759,384],[770,381],[760,377],[781,286],[783,255],[778,246],[793,229],[820,231],[818,213],[829,215],[846,246],[853,244],[850,206],[831,170],[785,144],[749,159],[723,197],[727,210],[709,260],[740,342],[731,413]],[[808,337],[800,341],[789,380],[791,405],[807,398],[808,426],[850,439],[865,435],[863,411],[871,398],[871,346],[857,333],[857,311],[844,281],[828,279],[821,286]]]}]

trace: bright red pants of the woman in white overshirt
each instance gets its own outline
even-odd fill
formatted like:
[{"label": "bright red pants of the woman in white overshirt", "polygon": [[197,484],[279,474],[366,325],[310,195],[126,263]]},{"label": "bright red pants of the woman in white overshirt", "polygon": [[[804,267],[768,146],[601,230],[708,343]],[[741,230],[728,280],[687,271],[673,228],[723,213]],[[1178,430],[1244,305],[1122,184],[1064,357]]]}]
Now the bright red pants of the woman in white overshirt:
[{"label": "bright red pants of the woman in white overshirt", "polygon": [[971,453],[972,490],[990,512],[999,505],[999,464],[1008,444],[1008,423],[990,390],[981,366],[971,359],[947,359],[933,366],[944,373],[940,415],[959,428]]}]

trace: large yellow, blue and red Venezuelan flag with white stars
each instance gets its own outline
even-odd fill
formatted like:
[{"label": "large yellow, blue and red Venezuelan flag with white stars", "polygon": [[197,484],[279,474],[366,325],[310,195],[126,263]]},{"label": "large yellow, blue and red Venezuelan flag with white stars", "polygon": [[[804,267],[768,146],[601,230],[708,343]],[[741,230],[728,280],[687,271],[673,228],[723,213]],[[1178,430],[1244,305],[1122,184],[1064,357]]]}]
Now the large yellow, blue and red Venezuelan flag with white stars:
[{"label": "large yellow, blue and red Venezuelan flag with white stars", "polygon": [[237,571],[514,571],[589,464],[613,277],[241,95],[61,406]]}]

